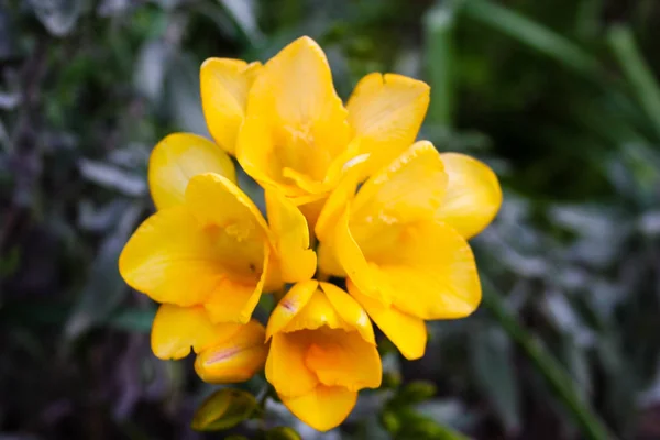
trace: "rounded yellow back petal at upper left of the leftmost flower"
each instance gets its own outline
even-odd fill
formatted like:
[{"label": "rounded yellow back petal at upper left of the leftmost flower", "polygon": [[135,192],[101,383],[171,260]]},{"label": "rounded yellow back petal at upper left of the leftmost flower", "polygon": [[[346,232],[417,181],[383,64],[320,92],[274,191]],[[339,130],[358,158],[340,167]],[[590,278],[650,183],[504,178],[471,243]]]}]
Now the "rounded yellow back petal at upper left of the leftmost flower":
[{"label": "rounded yellow back petal at upper left of the leftmost flower", "polygon": [[237,180],[229,156],[208,139],[190,133],[174,133],[163,139],[148,161],[148,187],[156,208],[183,204],[188,182],[202,173]]}]

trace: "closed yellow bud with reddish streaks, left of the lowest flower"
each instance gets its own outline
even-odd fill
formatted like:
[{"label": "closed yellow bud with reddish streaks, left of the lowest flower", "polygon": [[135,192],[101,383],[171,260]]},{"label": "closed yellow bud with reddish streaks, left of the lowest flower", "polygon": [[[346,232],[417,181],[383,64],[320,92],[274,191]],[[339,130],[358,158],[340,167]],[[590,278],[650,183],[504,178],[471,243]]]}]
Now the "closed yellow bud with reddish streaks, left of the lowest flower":
[{"label": "closed yellow bud with reddish streaks, left of the lowest flower", "polygon": [[267,354],[264,326],[252,320],[240,326],[230,339],[199,353],[195,371],[204,382],[211,384],[245,382],[264,367]]}]

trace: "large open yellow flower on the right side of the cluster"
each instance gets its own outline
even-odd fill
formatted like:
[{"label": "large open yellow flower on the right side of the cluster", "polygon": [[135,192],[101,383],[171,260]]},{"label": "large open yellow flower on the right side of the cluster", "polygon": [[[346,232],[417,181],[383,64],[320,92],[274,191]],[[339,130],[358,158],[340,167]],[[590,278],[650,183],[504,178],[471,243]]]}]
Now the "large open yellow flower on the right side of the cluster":
[{"label": "large open yellow flower on the right side of the cluster", "polygon": [[426,141],[353,198],[359,174],[346,177],[320,215],[319,264],[322,272],[348,276],[349,293],[374,322],[406,358],[418,359],[425,320],[462,318],[481,301],[466,239],[497,212],[499,185],[483,163],[439,154]]}]

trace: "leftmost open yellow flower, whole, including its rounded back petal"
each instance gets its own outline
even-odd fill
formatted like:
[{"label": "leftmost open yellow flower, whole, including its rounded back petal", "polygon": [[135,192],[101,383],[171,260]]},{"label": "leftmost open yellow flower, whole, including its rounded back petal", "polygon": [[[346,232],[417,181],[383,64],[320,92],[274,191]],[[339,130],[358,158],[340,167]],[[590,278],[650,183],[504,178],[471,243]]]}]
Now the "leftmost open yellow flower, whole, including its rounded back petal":
[{"label": "leftmost open yellow flower, whole, including its rounded back petal", "polygon": [[264,287],[310,278],[302,213],[268,190],[268,226],[234,179],[229,156],[204,138],[177,133],[156,145],[148,182],[158,211],[120,256],[127,283],[158,302],[204,306],[215,322],[245,323]]}]

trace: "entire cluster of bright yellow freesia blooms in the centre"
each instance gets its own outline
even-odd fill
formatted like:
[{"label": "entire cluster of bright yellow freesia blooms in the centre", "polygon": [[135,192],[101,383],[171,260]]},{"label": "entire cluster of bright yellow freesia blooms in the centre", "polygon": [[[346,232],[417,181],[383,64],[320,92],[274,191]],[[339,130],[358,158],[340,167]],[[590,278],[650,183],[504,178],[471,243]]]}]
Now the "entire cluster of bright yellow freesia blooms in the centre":
[{"label": "entire cluster of bright yellow freesia blooms in the centre", "polygon": [[[246,381],[265,366],[298,418],[331,429],[360,389],[381,384],[372,320],[418,359],[425,320],[477,307],[466,239],[497,212],[497,178],[476,160],[414,143],[426,84],[371,74],[344,106],[308,37],[265,65],[207,59],[200,79],[215,142],[176,133],[156,145],[148,184],[157,212],[125,245],[120,272],[162,304],[156,356],[193,348],[210,383]],[[239,188],[230,155],[264,188],[267,220]],[[252,312],[262,294],[285,286],[264,328]]]}]

